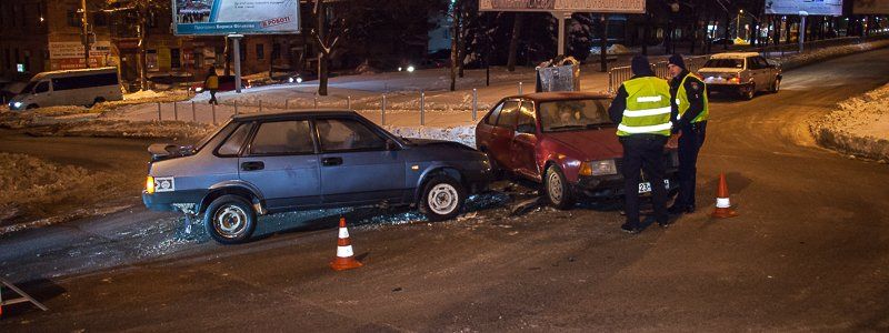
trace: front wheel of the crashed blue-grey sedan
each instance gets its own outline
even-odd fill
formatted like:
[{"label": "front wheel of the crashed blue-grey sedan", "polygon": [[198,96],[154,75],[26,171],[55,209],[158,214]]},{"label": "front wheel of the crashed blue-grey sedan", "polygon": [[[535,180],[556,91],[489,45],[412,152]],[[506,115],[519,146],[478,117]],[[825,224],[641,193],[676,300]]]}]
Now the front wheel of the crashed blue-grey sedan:
[{"label": "front wheel of the crashed blue-grey sedan", "polygon": [[456,179],[448,175],[433,175],[423,185],[420,213],[429,221],[444,221],[457,218],[466,202],[466,191]]}]

